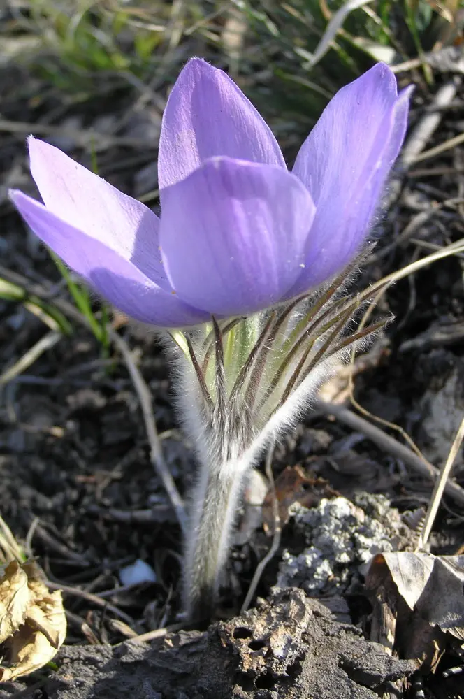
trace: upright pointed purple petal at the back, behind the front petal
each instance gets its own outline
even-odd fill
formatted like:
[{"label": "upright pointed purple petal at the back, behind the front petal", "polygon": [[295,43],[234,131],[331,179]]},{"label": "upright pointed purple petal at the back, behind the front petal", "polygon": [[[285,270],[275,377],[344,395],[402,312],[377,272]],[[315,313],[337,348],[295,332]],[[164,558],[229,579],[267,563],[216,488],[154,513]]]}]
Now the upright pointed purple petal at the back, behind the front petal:
[{"label": "upright pointed purple petal at the back, behind the front petal", "polygon": [[179,182],[215,155],[287,169],[263,117],[223,71],[194,58],[169,95],[159,138],[159,187]]}]

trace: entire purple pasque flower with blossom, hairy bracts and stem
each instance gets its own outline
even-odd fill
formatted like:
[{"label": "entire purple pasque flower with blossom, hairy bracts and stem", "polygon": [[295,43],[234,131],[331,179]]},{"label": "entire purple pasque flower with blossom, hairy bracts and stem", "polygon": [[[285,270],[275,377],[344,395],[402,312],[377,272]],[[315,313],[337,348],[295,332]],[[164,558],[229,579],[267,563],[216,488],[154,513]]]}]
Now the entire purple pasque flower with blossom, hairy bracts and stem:
[{"label": "entire purple pasque flower with blossom, hairy bracts and stem", "polygon": [[171,329],[180,415],[200,465],[184,556],[192,615],[214,607],[263,448],[347,347],[379,327],[347,333],[369,291],[344,289],[403,142],[409,93],[377,64],[335,95],[289,172],[235,83],[192,59],[161,127],[161,219],[29,139],[43,203],[11,197],[31,229],[128,315]]}]

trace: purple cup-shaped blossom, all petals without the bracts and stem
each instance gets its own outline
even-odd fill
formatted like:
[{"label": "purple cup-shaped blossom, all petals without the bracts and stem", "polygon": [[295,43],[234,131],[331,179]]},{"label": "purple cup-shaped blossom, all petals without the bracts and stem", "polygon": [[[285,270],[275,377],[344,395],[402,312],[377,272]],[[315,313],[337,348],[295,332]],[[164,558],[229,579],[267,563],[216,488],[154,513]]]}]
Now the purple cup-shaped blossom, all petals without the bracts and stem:
[{"label": "purple cup-shaped blossom, all petals without the bracts and stem", "polygon": [[161,219],[32,137],[43,204],[10,196],[36,235],[128,315],[166,327],[245,315],[316,287],[360,250],[403,143],[409,94],[377,64],[335,95],[289,172],[237,85],[191,59],[163,117]]}]

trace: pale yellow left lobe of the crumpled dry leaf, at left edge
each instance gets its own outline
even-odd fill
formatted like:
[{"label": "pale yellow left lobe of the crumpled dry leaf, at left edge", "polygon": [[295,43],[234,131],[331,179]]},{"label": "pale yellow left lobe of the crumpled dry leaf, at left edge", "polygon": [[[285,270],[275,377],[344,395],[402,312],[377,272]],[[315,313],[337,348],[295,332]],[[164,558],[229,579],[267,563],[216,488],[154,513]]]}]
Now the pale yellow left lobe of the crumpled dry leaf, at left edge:
[{"label": "pale yellow left lobe of the crumpled dry leaf, at left edge", "polygon": [[24,623],[29,603],[27,574],[17,561],[11,561],[0,579],[0,643]]}]

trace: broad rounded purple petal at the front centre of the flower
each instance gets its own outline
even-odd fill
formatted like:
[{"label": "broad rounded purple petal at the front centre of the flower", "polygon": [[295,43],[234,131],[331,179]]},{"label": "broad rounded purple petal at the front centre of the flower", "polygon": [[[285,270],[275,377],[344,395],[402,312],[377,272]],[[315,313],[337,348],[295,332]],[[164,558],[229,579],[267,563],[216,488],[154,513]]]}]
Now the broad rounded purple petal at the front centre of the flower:
[{"label": "broad rounded purple petal at the front centre of the flower", "polygon": [[240,315],[277,303],[296,282],[314,205],[282,168],[212,158],[165,189],[161,208],[164,266],[186,303]]}]

